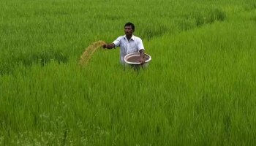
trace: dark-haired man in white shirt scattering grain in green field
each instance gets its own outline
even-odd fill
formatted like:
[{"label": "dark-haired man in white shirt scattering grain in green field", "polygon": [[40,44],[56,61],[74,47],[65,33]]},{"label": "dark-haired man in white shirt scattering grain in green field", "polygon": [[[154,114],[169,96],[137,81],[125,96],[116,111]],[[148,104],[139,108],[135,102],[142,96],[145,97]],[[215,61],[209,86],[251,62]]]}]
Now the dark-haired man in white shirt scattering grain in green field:
[{"label": "dark-haired man in white shirt scattering grain in green field", "polygon": [[140,64],[145,64],[144,58],[144,46],[139,37],[135,37],[133,32],[135,31],[135,25],[133,23],[126,23],[124,25],[124,36],[118,37],[113,43],[105,44],[103,48],[116,48],[120,47],[120,61],[124,64],[124,56],[129,53],[140,52]]}]

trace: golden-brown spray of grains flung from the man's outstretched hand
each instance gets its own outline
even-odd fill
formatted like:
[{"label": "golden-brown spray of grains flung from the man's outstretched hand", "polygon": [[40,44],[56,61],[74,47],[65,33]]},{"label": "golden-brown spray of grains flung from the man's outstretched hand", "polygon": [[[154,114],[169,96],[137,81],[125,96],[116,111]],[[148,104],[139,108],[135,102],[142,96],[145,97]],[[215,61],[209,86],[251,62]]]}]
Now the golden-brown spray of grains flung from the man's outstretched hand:
[{"label": "golden-brown spray of grains flung from the man's outstretched hand", "polygon": [[99,47],[102,47],[102,45],[105,45],[104,41],[94,42],[91,45],[89,45],[89,47],[87,47],[86,50],[83,52],[83,55],[81,55],[79,64],[83,66],[88,64],[91,56]]}]

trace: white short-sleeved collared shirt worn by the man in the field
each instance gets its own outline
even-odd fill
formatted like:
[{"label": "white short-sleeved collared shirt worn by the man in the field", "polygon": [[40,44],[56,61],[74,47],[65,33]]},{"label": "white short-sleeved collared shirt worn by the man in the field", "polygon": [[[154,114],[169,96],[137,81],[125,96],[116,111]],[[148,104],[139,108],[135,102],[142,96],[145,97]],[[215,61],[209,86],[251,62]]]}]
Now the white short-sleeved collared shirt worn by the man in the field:
[{"label": "white short-sleeved collared shirt worn by the man in the field", "polygon": [[120,47],[120,61],[124,64],[124,56],[129,53],[138,53],[140,50],[144,50],[143,42],[139,37],[132,35],[132,38],[127,39],[127,37],[118,37],[114,42],[115,47]]}]

